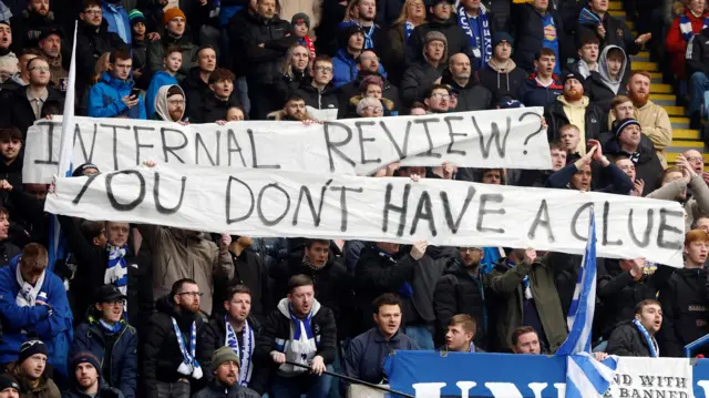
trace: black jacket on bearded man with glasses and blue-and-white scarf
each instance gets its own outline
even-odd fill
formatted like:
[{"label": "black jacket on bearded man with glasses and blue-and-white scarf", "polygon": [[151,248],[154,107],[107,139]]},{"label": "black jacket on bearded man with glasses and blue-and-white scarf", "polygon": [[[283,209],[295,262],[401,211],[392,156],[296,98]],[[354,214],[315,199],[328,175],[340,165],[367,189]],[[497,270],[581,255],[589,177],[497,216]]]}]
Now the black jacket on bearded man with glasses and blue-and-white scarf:
[{"label": "black jacket on bearded man with glasses and blue-and-white scarf", "polygon": [[[155,306],[157,313],[147,323],[148,333],[143,341],[141,357],[141,377],[146,387],[147,398],[157,397],[155,381],[175,382],[186,377],[177,371],[179,364],[183,363],[183,357],[171,318],[175,318],[187,349],[189,349],[192,323],[197,323],[197,339],[202,336],[203,324],[199,314],[191,314],[176,308],[173,296],[169,294],[160,298]],[[206,373],[209,369],[203,367],[202,371]]]}]

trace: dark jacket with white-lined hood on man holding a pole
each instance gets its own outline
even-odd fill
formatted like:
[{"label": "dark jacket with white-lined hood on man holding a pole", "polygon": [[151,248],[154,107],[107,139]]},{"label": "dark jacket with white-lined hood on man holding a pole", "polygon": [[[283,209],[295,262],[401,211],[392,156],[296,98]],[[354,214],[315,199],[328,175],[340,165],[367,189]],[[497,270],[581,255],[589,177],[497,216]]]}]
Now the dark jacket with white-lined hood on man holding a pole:
[{"label": "dark jacket with white-lined hood on man holding a pole", "polygon": [[[270,358],[270,351],[276,350],[284,353],[291,339],[291,329],[295,327],[290,319],[288,309],[288,298],[284,298],[278,303],[264,324],[257,338],[256,348],[254,349],[254,376],[249,387],[257,392],[263,394],[269,385],[273,373],[289,373],[290,366],[277,365]],[[320,305],[317,299],[312,299],[312,317],[310,318],[310,328],[317,343],[316,356],[322,357],[326,365],[335,360],[337,351],[337,326],[335,316],[330,308]],[[307,375],[307,374],[302,374]]]}]

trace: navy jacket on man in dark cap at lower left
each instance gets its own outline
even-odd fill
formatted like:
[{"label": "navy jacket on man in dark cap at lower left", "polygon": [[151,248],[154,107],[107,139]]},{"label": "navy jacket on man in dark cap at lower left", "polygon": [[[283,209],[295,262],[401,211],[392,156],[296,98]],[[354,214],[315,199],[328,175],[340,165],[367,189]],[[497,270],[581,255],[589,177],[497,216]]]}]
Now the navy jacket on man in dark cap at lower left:
[{"label": "navy jacket on man in dark cap at lower left", "polygon": [[[94,313],[94,312],[92,312]],[[121,330],[114,336],[111,348],[111,364],[105,364],[106,341],[104,328],[95,314],[89,315],[89,320],[76,326],[74,343],[69,349],[69,357],[78,353],[92,353],[101,360],[103,379],[113,388],[123,392],[125,398],[135,398],[137,387],[137,331],[125,320],[121,320]]]}]

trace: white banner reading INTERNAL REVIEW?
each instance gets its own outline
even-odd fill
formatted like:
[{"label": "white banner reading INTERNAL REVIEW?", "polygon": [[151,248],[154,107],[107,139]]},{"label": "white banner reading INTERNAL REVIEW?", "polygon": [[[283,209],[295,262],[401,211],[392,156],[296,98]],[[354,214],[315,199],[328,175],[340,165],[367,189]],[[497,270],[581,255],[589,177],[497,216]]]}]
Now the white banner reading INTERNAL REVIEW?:
[{"label": "white banner reading INTERNAL REVIEW?", "polygon": [[[102,172],[163,164],[223,165],[309,173],[369,175],[410,157],[409,165],[450,162],[470,167],[552,169],[542,108],[423,116],[298,122],[194,124],[74,118],[75,166]],[[61,118],[29,129],[22,181],[58,174]]]}]

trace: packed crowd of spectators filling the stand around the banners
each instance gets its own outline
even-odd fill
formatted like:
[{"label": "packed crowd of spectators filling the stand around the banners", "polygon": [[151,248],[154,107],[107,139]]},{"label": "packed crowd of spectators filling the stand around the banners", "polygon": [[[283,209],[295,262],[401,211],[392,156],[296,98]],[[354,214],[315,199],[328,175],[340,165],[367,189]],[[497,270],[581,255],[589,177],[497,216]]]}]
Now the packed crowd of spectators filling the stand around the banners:
[{"label": "packed crowd of spectators filling the stand around the banners", "polygon": [[[395,349],[553,354],[580,256],[427,242],[257,238],[58,216],[23,184],[28,129],[80,115],[233,123],[543,106],[546,171],[391,164],[372,177],[677,201],[685,267],[598,258],[597,357],[682,356],[709,333],[709,174],[633,68],[669,60],[709,113],[706,0],[0,1],[0,394],[22,398],[339,397],[387,382]],[[665,44],[665,45],[662,45]],[[666,57],[667,55],[667,57]],[[74,176],[100,173],[83,164]]]}]

